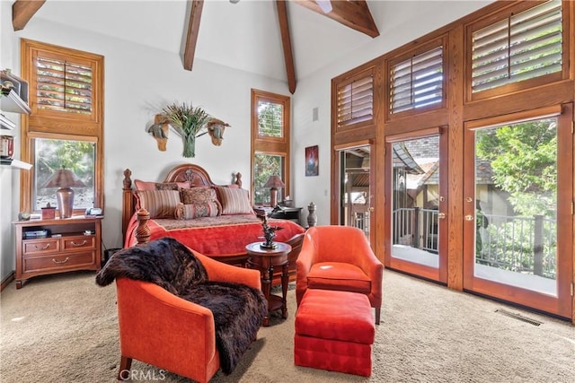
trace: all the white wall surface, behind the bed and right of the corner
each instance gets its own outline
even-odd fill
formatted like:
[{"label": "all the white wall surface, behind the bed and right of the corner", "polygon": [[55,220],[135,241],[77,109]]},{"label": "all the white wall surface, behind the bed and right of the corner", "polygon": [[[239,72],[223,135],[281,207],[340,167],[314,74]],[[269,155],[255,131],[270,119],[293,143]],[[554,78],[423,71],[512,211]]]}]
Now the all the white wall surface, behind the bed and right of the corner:
[{"label": "all the white wall surface, behind the bed and right of the corner", "polygon": [[[378,4],[372,9],[374,19],[383,21],[379,25],[378,38],[298,81],[296,93],[292,96],[294,187],[291,197],[297,206],[306,207],[313,201],[317,205],[318,224],[330,221],[331,79],[487,3],[396,1]],[[34,20],[24,30],[13,32],[11,2],[1,1],[0,13],[0,68],[11,67],[15,74],[20,74],[20,38],[105,57],[103,241],[107,248],[121,246],[123,170],[132,170],[132,179],[157,179],[159,174],[187,161],[181,157],[181,140],[173,131],[170,131],[166,152],[159,152],[155,140],[146,133],[146,127],[165,102],[191,101],[232,126],[226,129],[224,144],[220,147],[213,146],[208,136],[199,138],[196,158],[188,161],[208,170],[216,183],[228,183],[232,174],[240,171],[246,187],[249,187],[250,90],[256,88],[288,95],[285,83],[199,59],[195,60],[192,72],[184,71],[178,55],[82,30],[69,30],[60,24],[41,20]],[[312,121],[314,108],[319,111],[319,119],[315,122]],[[19,155],[18,129],[14,129],[13,135],[17,137],[16,155]],[[305,177],[305,147],[315,144],[319,145],[319,176]],[[2,279],[15,266],[12,221],[16,219],[19,208],[19,171],[4,167],[0,170]]]}]

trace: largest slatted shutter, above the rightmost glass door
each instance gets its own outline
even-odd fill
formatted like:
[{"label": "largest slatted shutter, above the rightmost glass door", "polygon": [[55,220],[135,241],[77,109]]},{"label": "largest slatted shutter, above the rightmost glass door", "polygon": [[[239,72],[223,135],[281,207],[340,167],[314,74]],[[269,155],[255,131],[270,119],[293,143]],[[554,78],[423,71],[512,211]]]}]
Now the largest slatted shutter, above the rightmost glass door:
[{"label": "largest slatted shutter, above the rightmost glass door", "polygon": [[549,1],[473,32],[472,91],[562,71],[562,2]]}]

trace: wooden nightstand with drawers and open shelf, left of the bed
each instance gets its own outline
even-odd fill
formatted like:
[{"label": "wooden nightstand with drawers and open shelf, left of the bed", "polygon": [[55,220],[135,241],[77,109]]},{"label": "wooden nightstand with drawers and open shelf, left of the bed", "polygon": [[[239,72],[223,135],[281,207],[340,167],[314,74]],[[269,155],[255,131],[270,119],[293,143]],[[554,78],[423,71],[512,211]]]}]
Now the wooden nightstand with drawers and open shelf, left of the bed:
[{"label": "wooden nightstand with drawers and open shelf, left of the bed", "polygon": [[[33,276],[100,270],[102,217],[19,221],[14,225],[16,289],[20,289],[22,283]],[[31,235],[40,231],[47,231],[47,235]]]}]

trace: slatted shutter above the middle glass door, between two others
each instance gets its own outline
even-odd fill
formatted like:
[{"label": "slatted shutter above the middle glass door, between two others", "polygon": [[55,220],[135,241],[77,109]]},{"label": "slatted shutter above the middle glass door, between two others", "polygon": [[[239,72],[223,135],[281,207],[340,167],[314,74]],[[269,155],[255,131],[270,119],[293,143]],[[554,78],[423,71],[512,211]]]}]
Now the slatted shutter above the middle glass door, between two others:
[{"label": "slatted shutter above the middle glass door, between two others", "polygon": [[433,48],[390,69],[390,111],[399,113],[443,100],[443,48]]}]

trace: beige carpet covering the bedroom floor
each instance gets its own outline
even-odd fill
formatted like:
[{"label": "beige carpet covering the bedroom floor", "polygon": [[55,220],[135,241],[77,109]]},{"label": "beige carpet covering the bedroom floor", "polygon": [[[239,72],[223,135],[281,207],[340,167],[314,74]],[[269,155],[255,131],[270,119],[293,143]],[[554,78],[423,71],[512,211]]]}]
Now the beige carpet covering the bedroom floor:
[{"label": "beige carpet covering the bedroom floor", "polygon": [[[119,350],[115,287],[93,273],[32,279],[0,295],[2,382],[113,382]],[[575,326],[388,270],[373,374],[361,378],[294,366],[295,294],[234,373],[220,382],[572,382]],[[540,326],[496,312],[506,309]],[[133,381],[187,382],[134,361]]]}]

